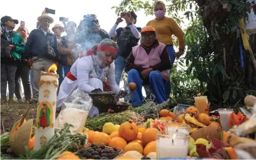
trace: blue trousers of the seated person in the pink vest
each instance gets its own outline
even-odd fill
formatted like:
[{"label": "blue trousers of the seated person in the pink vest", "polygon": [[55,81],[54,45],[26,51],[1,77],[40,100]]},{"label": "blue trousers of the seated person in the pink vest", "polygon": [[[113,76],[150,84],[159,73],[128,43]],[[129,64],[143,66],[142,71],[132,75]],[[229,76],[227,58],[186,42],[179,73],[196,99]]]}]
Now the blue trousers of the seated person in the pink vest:
[{"label": "blue trousers of the seated person in the pink vest", "polygon": [[[128,73],[128,83],[134,82],[137,87],[134,90],[131,100],[132,106],[141,106],[143,97],[142,97],[142,84],[143,80],[141,79],[139,72],[137,70],[130,70]],[[157,99],[157,103],[163,103],[167,100],[165,94],[165,83],[163,82],[163,76],[159,71],[151,71],[149,74],[149,86],[152,89],[153,94]]]}]

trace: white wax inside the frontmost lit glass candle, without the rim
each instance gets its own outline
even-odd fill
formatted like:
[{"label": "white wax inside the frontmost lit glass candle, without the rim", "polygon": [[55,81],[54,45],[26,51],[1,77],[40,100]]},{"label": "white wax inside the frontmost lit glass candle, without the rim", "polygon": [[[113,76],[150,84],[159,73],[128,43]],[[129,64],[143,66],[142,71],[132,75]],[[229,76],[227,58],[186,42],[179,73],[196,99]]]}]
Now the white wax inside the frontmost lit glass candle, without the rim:
[{"label": "white wax inside the frontmost lit glass candle, without the rim", "polygon": [[157,140],[157,158],[186,158],[188,140],[181,138],[159,138]]}]

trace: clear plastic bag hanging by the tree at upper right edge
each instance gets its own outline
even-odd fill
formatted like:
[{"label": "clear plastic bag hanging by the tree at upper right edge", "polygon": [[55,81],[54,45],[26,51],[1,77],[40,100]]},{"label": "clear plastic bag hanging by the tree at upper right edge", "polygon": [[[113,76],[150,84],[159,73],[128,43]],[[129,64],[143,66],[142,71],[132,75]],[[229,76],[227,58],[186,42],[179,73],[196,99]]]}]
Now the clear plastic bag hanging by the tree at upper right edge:
[{"label": "clear plastic bag hanging by the tree at upper right edge", "polygon": [[[253,1],[247,1],[247,2],[253,2]],[[256,15],[254,14],[254,9],[250,9],[250,14],[248,14],[248,20],[246,18],[246,31],[248,36],[250,36],[250,34],[256,33]]]}]

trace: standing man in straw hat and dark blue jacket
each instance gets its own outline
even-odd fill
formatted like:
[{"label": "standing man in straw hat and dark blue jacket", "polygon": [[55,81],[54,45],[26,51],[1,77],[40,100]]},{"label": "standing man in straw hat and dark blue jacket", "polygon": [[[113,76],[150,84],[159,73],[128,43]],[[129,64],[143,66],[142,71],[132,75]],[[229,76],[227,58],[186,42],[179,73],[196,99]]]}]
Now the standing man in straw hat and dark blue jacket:
[{"label": "standing man in straw hat and dark blue jacket", "polygon": [[41,71],[48,71],[52,63],[59,62],[59,48],[56,36],[51,33],[49,26],[54,22],[45,11],[38,17],[39,28],[31,31],[28,36],[24,57],[33,63],[33,87],[35,94],[30,103],[38,102],[38,91]]}]

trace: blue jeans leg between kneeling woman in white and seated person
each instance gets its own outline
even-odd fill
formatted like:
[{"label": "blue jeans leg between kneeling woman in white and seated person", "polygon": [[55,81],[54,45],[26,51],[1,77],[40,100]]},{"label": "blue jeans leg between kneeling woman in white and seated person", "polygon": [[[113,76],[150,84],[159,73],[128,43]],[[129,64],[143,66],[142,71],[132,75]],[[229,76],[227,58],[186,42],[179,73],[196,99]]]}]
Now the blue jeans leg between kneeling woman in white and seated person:
[{"label": "blue jeans leg between kneeling woman in white and seated person", "polygon": [[125,70],[125,64],[126,59],[118,55],[118,57],[115,59],[115,81],[117,82],[118,86],[122,78],[123,70]]}]

